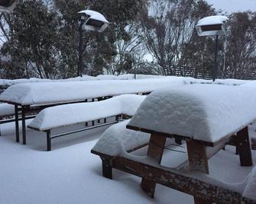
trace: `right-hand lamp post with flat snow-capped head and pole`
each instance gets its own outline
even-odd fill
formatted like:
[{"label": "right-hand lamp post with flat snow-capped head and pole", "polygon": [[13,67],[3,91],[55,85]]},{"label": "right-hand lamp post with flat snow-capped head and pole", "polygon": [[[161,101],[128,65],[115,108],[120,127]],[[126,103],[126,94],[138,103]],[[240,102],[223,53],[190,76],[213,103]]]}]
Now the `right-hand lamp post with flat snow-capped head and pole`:
[{"label": "right-hand lamp post with flat snow-capped head and pole", "polygon": [[217,72],[217,56],[218,56],[218,37],[226,33],[227,17],[222,15],[209,16],[202,18],[196,24],[196,31],[199,36],[215,36],[215,59],[212,69],[212,79],[215,81]]}]

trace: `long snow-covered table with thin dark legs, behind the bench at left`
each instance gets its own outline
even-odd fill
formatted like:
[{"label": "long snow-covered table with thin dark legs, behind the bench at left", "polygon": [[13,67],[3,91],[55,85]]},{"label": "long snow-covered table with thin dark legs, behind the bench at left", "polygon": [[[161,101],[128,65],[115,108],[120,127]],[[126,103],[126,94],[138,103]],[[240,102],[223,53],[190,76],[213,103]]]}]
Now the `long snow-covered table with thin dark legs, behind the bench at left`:
[{"label": "long snow-covered table with thin dark legs, behind the bench at left", "polygon": [[68,81],[15,84],[0,95],[0,102],[15,106],[16,142],[19,142],[18,114],[21,112],[22,139],[26,144],[26,115],[46,107],[105,100],[120,94],[148,94],[157,88],[184,84],[183,78],[140,80]]}]

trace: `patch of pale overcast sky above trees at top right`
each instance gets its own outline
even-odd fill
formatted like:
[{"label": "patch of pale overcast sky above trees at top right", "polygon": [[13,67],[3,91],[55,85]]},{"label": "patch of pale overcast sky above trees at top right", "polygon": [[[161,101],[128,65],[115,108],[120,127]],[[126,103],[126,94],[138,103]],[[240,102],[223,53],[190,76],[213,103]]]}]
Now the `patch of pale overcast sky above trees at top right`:
[{"label": "patch of pale overcast sky above trees at top right", "polygon": [[214,8],[231,12],[256,11],[256,0],[206,0]]}]

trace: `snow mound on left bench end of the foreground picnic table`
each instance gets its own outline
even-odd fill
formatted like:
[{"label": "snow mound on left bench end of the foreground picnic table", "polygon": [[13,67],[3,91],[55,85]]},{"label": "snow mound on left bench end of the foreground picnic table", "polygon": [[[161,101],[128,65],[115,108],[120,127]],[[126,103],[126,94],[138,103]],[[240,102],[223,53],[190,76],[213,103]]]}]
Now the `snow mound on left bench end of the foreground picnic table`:
[{"label": "snow mound on left bench end of the foreground picnic table", "polygon": [[149,142],[150,134],[126,129],[128,122],[129,120],[125,120],[106,129],[92,150],[105,155],[117,156]]}]

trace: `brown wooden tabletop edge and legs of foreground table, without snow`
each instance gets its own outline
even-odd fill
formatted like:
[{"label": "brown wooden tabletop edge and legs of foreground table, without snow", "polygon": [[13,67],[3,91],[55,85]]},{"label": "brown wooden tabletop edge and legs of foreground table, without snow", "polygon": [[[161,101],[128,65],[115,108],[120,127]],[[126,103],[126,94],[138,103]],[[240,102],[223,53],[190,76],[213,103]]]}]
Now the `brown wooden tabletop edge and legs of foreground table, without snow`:
[{"label": "brown wooden tabletop edge and legs of foreground table, without snow", "polygon": [[[231,141],[232,144],[237,144],[241,166],[252,166],[248,127],[241,129],[236,135],[227,135],[218,142],[205,142],[202,140],[191,139],[183,135],[170,135],[163,132],[155,132],[152,129],[141,129],[137,126],[128,125],[127,128],[151,133],[151,139],[147,149],[147,157],[155,159],[159,164],[163,158],[167,138],[175,138],[178,140],[186,140],[189,171],[201,171],[209,174],[208,158],[215,155],[215,153],[224,148],[225,145]],[[213,151],[210,153],[207,152],[207,147],[212,147]],[[142,177],[141,188],[151,197],[154,197],[155,186],[156,182]],[[194,200],[196,204],[212,203],[196,196],[194,196]]]}]

